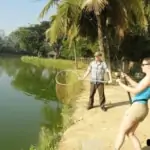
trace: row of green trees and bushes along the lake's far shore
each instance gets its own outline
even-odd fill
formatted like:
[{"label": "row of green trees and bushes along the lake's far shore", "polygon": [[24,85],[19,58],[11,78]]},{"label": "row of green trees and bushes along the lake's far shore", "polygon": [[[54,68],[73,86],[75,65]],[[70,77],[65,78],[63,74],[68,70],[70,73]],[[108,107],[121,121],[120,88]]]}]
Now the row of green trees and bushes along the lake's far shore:
[{"label": "row of green trees and bushes along the lake's far shore", "polygon": [[[73,46],[69,46],[66,38],[59,38],[53,44],[46,40],[45,32],[49,26],[50,23],[44,21],[20,27],[7,37],[3,35],[0,37],[0,53],[74,59]],[[98,48],[97,43],[91,44],[87,39],[79,39],[76,45],[77,57],[91,57]]]}]

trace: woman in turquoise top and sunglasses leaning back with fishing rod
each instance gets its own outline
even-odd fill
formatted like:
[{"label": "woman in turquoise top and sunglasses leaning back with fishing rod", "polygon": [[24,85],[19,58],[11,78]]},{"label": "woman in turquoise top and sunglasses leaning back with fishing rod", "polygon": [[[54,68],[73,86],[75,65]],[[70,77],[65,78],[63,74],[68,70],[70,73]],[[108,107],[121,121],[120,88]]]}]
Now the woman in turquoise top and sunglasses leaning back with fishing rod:
[{"label": "woman in turquoise top and sunglasses leaning back with fishing rod", "polygon": [[121,122],[119,134],[115,143],[115,150],[120,150],[127,135],[133,143],[135,150],[142,150],[138,138],[135,136],[135,130],[140,122],[142,122],[148,114],[148,99],[150,99],[150,58],[145,58],[141,64],[142,71],[146,74],[145,77],[139,82],[133,81],[128,75],[122,73],[128,82],[131,84],[127,86],[117,79],[119,85],[135,96],[132,98],[132,105],[126,111]]}]

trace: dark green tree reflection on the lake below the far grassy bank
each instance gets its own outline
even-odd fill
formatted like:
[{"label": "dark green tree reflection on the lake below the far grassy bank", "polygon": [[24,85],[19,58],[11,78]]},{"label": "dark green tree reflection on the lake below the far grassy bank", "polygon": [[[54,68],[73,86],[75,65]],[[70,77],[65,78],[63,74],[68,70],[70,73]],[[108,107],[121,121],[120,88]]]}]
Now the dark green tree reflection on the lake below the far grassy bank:
[{"label": "dark green tree reflection on the lake below the far grassy bank", "polygon": [[44,68],[24,66],[18,70],[12,85],[18,90],[33,95],[37,100],[56,100],[54,79],[56,71],[47,70],[46,76],[43,75],[44,71]]}]

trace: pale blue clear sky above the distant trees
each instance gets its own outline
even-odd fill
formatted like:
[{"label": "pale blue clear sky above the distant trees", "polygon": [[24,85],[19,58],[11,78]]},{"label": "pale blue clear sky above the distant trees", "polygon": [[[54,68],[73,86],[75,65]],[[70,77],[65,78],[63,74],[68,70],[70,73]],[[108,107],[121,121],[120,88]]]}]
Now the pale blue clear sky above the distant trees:
[{"label": "pale blue clear sky above the distant trees", "polygon": [[[20,26],[39,23],[38,16],[48,0],[3,0],[0,5],[0,30],[8,35]],[[52,7],[43,20],[48,20],[56,9]]]}]

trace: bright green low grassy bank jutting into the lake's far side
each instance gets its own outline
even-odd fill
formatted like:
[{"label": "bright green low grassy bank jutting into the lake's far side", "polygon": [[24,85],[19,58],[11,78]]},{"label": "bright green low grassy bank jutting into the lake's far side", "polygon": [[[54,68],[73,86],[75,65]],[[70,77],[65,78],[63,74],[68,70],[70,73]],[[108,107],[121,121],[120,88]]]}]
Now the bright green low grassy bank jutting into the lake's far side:
[{"label": "bright green low grassy bank jutting into the lake's far side", "polygon": [[[30,63],[38,67],[51,68],[55,67],[58,69],[74,69],[75,63],[72,60],[63,60],[63,59],[45,59],[33,56],[23,56],[21,60],[25,63]],[[86,65],[82,62],[78,63],[79,68],[84,68]]]}]

